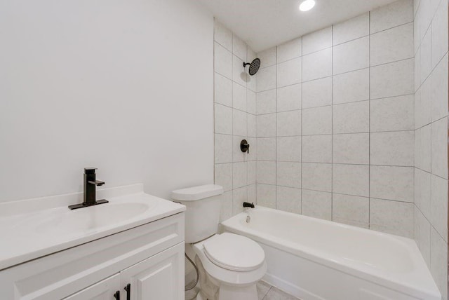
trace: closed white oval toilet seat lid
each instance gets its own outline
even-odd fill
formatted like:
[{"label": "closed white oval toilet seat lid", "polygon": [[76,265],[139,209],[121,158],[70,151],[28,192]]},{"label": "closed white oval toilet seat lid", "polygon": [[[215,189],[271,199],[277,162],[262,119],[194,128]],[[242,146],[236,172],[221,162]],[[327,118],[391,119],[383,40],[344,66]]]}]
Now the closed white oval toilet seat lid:
[{"label": "closed white oval toilet seat lid", "polygon": [[231,271],[248,272],[264,264],[262,247],[245,236],[222,233],[203,244],[206,257],[213,264]]}]

